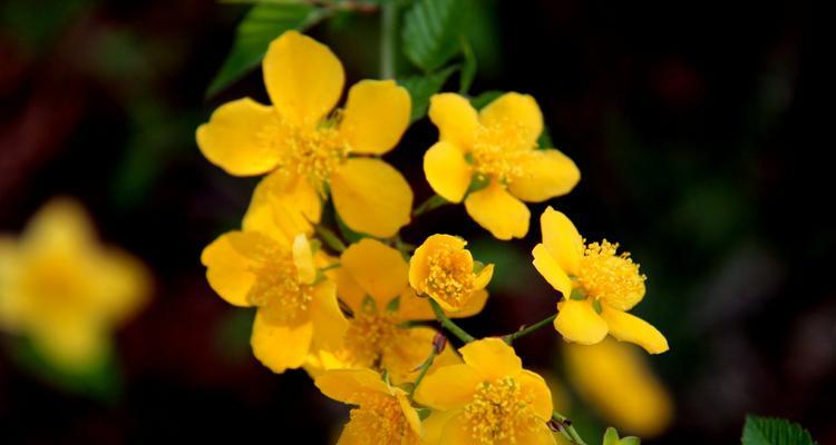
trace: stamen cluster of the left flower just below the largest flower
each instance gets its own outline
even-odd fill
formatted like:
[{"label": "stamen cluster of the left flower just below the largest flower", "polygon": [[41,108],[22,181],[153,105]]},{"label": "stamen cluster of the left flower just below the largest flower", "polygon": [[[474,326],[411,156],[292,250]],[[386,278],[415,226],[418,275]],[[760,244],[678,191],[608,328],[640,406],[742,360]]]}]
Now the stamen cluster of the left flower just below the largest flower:
[{"label": "stamen cluster of the left flower just below the largest flower", "polygon": [[255,283],[249,299],[268,320],[288,324],[308,312],[313,286],[302,283],[293,254],[279,246],[262,247],[253,257]]}]

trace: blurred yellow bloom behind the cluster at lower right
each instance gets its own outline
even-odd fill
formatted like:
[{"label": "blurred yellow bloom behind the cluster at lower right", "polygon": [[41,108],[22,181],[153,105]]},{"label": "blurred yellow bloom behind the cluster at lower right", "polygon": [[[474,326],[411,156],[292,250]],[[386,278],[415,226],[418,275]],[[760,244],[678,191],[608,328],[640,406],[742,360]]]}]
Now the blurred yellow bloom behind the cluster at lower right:
[{"label": "blurred yellow bloom behind the cluster at lower right", "polygon": [[632,345],[567,344],[563,356],[579,394],[619,429],[654,437],[670,425],[673,400]]}]

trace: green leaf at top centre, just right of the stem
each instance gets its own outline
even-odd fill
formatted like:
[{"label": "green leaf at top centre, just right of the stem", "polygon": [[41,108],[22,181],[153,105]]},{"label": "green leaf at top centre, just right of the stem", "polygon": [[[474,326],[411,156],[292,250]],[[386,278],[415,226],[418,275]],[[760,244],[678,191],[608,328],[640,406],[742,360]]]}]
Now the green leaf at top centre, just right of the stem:
[{"label": "green leaf at top centre, just right of the stem", "polygon": [[404,17],[404,55],[425,72],[459,52],[464,26],[461,0],[418,0]]}]

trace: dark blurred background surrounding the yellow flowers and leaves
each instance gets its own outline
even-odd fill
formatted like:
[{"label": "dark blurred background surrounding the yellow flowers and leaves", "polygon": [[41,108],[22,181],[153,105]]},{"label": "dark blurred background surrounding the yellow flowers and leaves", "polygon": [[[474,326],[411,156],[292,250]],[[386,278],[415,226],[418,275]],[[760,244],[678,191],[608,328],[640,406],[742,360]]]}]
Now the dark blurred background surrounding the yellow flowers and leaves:
[{"label": "dark blurred background surrounding the yellow flowers and leaves", "polygon": [[[472,91],[538,100],[554,145],[582,171],[551,204],[586,238],[620,241],[649,277],[633,313],[671,350],[640,357],[672,403],[670,422],[636,433],[733,444],[754,413],[836,444],[836,231],[815,208],[827,198],[813,209],[805,199],[827,190],[832,170],[808,131],[809,4],[479,3]],[[346,407],[301,370],[259,365],[252,313],[215,296],[200,264],[205,245],[237,227],[255,185],[212,166],[194,142],[218,105],[266,102],[257,70],[205,95],[245,11],[200,0],[0,3],[0,233],[20,233],[49,198],[72,196],[105,241],[155,277],[149,306],[117,333],[107,385],[56,385],[2,338],[0,442],[324,444],[338,434]],[[332,46],[350,83],[377,76],[377,27],[376,14],[357,14],[310,33]],[[387,156],[417,202],[430,196],[420,159],[435,138],[419,121]],[[527,238],[499,244],[450,206],[404,238],[420,244],[434,231],[465,236],[497,265],[468,330],[506,334],[553,310],[556,295],[531,266],[536,219]],[[528,367],[551,369],[556,398],[591,443],[609,424],[630,433],[581,397],[553,332],[517,346]]]}]

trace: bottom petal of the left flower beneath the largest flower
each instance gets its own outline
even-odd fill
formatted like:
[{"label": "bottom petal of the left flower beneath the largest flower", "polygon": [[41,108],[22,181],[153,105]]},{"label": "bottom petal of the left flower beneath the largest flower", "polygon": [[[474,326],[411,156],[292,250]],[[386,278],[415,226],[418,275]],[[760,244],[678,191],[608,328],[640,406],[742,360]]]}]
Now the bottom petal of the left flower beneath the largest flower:
[{"label": "bottom petal of the left flower beneath the largest flower", "polygon": [[265,322],[260,313],[255,314],[250,338],[255,358],[276,374],[302,366],[311,346],[313,324],[274,325]]}]

